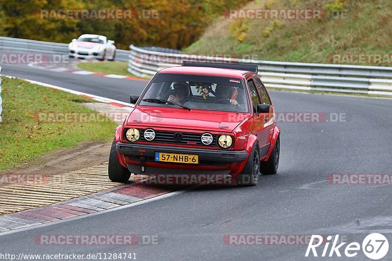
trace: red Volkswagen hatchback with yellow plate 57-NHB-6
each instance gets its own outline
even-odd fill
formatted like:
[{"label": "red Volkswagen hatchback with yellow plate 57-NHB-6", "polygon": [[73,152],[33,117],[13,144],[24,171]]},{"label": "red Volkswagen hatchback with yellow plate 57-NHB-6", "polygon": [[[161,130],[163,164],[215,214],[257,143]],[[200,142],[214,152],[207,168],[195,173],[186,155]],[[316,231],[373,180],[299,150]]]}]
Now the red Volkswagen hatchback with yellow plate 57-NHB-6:
[{"label": "red Volkswagen hatchback with yellow plate 57-NHB-6", "polygon": [[109,178],[223,174],[253,186],[275,174],[280,129],[257,66],[184,61],[155,74],[116,129]]}]

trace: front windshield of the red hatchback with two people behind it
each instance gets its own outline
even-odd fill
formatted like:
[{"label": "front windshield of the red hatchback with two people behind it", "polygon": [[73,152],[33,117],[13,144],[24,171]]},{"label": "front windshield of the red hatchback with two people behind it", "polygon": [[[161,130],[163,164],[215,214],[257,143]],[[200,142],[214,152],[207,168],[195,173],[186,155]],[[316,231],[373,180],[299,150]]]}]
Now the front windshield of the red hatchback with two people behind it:
[{"label": "front windshield of the red hatchback with two people behind it", "polygon": [[241,79],[192,74],[158,74],[139,105],[248,112]]}]

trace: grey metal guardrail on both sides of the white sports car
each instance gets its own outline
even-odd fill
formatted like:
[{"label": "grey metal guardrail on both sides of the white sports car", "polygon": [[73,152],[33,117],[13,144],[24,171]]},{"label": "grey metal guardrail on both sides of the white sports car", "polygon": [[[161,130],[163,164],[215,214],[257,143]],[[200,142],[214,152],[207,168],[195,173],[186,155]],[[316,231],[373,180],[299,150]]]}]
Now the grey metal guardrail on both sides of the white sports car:
[{"label": "grey metal guardrail on both sides of the white sports car", "polygon": [[[0,51],[68,55],[68,44],[0,36]],[[128,61],[128,50],[116,50],[116,61]]]}]

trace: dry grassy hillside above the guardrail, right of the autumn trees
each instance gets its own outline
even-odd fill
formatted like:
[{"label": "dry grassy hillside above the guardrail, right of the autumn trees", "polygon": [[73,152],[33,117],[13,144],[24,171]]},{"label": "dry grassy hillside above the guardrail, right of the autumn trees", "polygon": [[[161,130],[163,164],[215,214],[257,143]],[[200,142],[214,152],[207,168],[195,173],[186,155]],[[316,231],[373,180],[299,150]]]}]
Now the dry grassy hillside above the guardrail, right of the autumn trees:
[{"label": "dry grassy hillside above the guardrail, right of the autumn trees", "polygon": [[[332,53],[387,54],[383,55],[384,58],[388,58],[389,54],[391,58],[390,0],[256,0],[243,7],[299,8],[342,10],[346,18],[266,20],[221,17],[206,29],[198,41],[184,51],[235,54],[239,57],[253,54],[259,60],[311,63],[330,63]],[[391,66],[390,60],[384,59],[381,63],[373,60],[370,63],[357,63],[354,60],[354,63]],[[344,60],[343,63],[353,64]]]}]

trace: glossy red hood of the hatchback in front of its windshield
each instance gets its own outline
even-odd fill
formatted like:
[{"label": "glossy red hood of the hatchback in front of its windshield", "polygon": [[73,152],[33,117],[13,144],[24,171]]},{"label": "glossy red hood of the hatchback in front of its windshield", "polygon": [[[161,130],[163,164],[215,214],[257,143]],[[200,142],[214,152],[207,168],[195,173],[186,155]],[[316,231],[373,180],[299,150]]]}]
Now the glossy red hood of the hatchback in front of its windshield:
[{"label": "glossy red hood of the hatchback in front of its windshield", "polygon": [[[135,108],[127,124],[144,127],[184,128],[189,130],[231,132],[244,119],[246,113],[200,111],[177,108]],[[221,128],[220,128],[221,127]],[[227,127],[227,128],[224,128]]]}]

